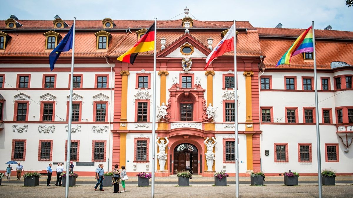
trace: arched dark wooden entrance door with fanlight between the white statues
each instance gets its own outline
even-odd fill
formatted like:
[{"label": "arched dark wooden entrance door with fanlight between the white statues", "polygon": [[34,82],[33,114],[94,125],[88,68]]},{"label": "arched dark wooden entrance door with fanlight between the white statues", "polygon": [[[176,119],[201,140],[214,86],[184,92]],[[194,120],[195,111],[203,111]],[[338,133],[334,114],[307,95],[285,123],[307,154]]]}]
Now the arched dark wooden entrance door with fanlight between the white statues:
[{"label": "arched dark wooden entrance door with fanlight between the white statues", "polygon": [[198,150],[190,143],[182,143],[174,149],[174,174],[175,171],[189,170],[198,174]]}]

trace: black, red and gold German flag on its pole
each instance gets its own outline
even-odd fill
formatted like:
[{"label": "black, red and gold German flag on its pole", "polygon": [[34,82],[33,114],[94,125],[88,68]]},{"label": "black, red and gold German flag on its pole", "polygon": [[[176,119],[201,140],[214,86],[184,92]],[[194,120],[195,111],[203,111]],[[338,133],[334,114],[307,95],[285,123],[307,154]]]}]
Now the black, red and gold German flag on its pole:
[{"label": "black, red and gold German flag on its pole", "polygon": [[125,52],[125,54],[119,56],[117,60],[133,64],[139,52],[154,50],[154,29],[155,24],[153,23],[152,26],[147,30],[147,32],[142,36],[142,38],[137,41],[134,47]]}]

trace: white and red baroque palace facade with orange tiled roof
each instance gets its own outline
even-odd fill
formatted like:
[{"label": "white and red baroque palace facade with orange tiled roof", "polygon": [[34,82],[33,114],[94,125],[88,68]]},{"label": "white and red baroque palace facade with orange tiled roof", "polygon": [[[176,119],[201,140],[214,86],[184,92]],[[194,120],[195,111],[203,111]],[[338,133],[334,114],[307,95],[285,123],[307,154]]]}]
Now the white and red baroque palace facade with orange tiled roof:
[{"label": "white and red baroque palace facade with orange tiled roof", "polygon": [[[128,175],[151,171],[152,108],[165,104],[156,123],[158,143],[168,138],[165,171],[207,170],[204,141],[212,143],[212,171],[235,175],[234,52],[205,59],[233,21],[157,21],[156,101],[153,51],[133,65],[116,58],[130,49],[152,20],[77,20],[71,160],[79,175],[124,165]],[[72,20],[0,20],[0,163],[21,162],[41,171],[66,161],[71,50],[55,69],[49,53]],[[309,27],[309,23],[308,23]],[[288,169],[317,174],[316,111],[322,168],[353,172],[353,32],[315,30],[319,109],[315,109],[312,53],[275,68],[304,29],[253,27],[237,21],[239,175],[262,170],[278,176]],[[182,66],[186,61],[188,67]],[[214,119],[206,116],[214,108]],[[163,106],[164,107],[164,106]],[[157,110],[158,112],[158,110]],[[159,152],[156,146],[156,154]],[[157,161],[158,162],[158,161]],[[156,163],[156,170],[162,165]],[[5,167],[2,168],[4,170]],[[163,169],[163,168],[162,168]]]}]

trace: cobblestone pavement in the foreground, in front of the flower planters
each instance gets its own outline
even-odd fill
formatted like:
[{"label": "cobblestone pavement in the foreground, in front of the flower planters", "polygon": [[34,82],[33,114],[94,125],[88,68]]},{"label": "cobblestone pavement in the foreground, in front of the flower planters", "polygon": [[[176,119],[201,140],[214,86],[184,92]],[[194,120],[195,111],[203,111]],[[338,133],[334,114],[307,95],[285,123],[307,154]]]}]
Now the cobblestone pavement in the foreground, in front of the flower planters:
[{"label": "cobblestone pavement in the foreground, in front of the flower planters", "polygon": [[[120,186],[121,187],[121,186]],[[74,186],[69,188],[69,197],[151,197],[151,187],[138,187],[136,185],[126,185],[126,192],[121,194],[113,193],[113,187],[104,187],[105,191],[94,191],[94,186]],[[121,188],[120,188],[121,190]],[[352,198],[353,185],[323,186],[323,197]],[[239,195],[245,197],[318,197],[317,185],[299,186],[250,186],[240,185]],[[65,187],[58,186],[0,186],[0,197],[64,197]],[[229,186],[168,186],[156,185],[155,197],[235,197],[235,185]]]}]

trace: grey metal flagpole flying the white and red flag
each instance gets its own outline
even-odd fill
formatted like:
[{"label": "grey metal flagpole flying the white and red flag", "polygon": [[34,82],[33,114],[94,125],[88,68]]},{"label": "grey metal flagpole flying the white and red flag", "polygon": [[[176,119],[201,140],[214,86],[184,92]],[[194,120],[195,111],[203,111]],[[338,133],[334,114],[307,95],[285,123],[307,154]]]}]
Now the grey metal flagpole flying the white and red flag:
[{"label": "grey metal flagpole flying the white and red flag", "polygon": [[239,142],[238,142],[238,83],[237,83],[237,37],[234,25],[234,125],[235,125],[235,197],[239,197]]}]

